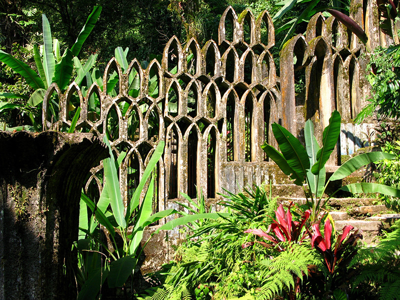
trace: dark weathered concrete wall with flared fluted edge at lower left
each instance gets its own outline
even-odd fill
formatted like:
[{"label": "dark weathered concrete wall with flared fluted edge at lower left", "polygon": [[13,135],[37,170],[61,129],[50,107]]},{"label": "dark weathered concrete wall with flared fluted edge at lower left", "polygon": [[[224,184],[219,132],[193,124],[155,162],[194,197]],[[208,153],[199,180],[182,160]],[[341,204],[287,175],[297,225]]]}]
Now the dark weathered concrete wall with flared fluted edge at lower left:
[{"label": "dark weathered concrete wall with flared fluted edge at lower left", "polygon": [[73,299],[80,190],[105,158],[92,134],[0,131],[0,299]]}]

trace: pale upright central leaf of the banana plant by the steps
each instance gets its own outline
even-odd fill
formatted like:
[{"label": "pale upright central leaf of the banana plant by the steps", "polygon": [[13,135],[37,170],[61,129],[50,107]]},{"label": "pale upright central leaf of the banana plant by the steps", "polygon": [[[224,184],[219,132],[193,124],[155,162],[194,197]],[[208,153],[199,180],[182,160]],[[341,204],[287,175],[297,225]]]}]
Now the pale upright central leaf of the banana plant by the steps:
[{"label": "pale upright central leaf of the banana plant by the steps", "polygon": [[[311,120],[307,120],[305,122],[304,139],[305,149],[309,157],[309,163],[310,165],[313,165],[316,162],[319,145],[314,135],[314,125]],[[311,192],[314,193],[317,197],[321,196],[323,192],[323,187],[325,185],[325,176],[325,167],[319,170],[319,176],[314,175],[311,170],[307,170],[307,178],[311,188]]]}]

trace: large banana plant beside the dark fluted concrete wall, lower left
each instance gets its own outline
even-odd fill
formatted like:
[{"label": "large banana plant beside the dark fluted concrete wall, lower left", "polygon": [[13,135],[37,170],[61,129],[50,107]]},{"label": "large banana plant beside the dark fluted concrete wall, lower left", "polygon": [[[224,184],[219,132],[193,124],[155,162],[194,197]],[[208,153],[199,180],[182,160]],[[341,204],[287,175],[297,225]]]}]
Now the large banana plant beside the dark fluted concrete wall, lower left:
[{"label": "large banana plant beside the dark fluted concrete wall, lower left", "polygon": [[[158,227],[139,250],[144,229],[149,224],[177,212],[175,209],[166,209],[152,214],[154,177],[151,174],[162,155],[164,141],[160,141],[155,148],[126,208],[122,201],[117,174],[117,167],[123,160],[125,153],[122,152],[115,161],[106,136],[104,136],[104,142],[108,146],[110,157],[103,160],[104,181],[100,198],[97,203],[94,203],[83,192],[80,197],[79,238],[76,245],[78,250],[90,252],[90,256],[88,256],[89,261],[85,261],[82,259],[83,256],[80,256],[80,273],[77,278],[82,286],[78,299],[94,299],[105,280],[107,280],[110,288],[122,286],[128,277],[133,275],[140,254],[147,242],[160,230],[173,229],[178,225],[194,222],[198,219],[218,218],[220,216],[218,213],[211,212],[173,219]],[[144,199],[140,203],[140,194],[148,181]],[[87,214],[88,208],[92,213],[90,218]],[[102,225],[109,232],[112,247],[105,245],[95,234],[98,225]],[[116,237],[117,234],[119,238]],[[118,240],[121,240],[121,242],[118,242]],[[94,243],[101,245],[106,253],[101,253],[90,247]],[[106,261],[109,260],[110,262],[101,264],[99,260],[101,257],[106,257]]]}]

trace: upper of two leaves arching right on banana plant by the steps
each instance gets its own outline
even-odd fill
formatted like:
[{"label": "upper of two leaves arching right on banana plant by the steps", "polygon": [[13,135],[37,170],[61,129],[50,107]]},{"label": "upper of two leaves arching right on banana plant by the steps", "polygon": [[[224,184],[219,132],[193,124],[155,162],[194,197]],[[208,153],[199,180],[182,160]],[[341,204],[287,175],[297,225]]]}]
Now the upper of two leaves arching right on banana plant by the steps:
[{"label": "upper of two leaves arching right on banana plant by the steps", "polygon": [[330,176],[329,180],[333,181],[347,177],[352,172],[356,171],[361,166],[367,165],[368,163],[382,159],[395,159],[395,158],[396,155],[386,152],[374,151],[374,152],[362,153],[348,159],[346,162],[340,165],[339,168],[332,174],[332,176]]}]

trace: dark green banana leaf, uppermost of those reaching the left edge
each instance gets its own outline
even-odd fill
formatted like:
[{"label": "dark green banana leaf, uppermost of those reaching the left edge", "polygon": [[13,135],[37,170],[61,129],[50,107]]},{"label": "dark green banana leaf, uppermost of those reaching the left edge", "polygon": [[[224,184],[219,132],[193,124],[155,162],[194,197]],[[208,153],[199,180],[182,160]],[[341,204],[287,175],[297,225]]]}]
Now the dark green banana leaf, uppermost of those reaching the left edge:
[{"label": "dark green banana leaf, uppermost of those reaching the left edge", "polygon": [[26,63],[14,58],[3,50],[0,50],[0,61],[12,68],[14,72],[22,75],[26,83],[33,89],[45,88],[40,77]]}]

